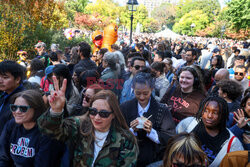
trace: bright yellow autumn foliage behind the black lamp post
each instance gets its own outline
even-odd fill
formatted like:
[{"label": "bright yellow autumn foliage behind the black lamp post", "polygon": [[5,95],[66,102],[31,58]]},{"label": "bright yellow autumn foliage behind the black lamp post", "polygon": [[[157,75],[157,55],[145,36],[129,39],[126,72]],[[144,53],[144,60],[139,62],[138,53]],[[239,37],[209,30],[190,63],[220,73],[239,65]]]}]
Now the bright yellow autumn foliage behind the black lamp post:
[{"label": "bright yellow autumn foliage behind the black lamp post", "polygon": [[[130,17],[131,12],[128,10],[127,6],[119,6],[117,3],[114,3],[112,0],[97,0],[95,3],[89,3],[85,8],[85,15],[82,15],[81,18],[82,23],[85,20],[85,23],[89,24],[90,22],[87,21],[87,18],[91,18],[88,15],[93,15],[95,18],[94,20],[100,20],[102,25],[105,23],[116,23],[116,18],[119,17],[120,19],[120,26],[124,26],[127,29],[130,29]],[[133,29],[136,28],[137,23],[142,25],[142,31],[151,31],[155,32],[155,25],[149,24],[149,22],[155,22],[155,19],[148,18],[148,11],[144,5],[139,5],[137,10],[133,13],[134,20],[133,20]],[[79,20],[75,18],[75,20]],[[76,23],[79,23],[76,21]],[[90,28],[91,30],[96,29],[95,26],[99,26],[100,23],[93,24],[94,27]],[[83,24],[82,24],[83,25]],[[158,25],[158,24],[157,24]],[[86,25],[85,25],[86,26]],[[150,28],[150,26],[152,26]],[[99,26],[100,27],[100,26]],[[101,27],[100,27],[101,28]],[[148,29],[149,28],[149,29]]]}]

